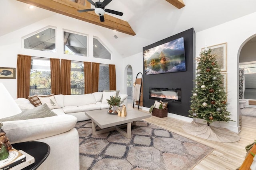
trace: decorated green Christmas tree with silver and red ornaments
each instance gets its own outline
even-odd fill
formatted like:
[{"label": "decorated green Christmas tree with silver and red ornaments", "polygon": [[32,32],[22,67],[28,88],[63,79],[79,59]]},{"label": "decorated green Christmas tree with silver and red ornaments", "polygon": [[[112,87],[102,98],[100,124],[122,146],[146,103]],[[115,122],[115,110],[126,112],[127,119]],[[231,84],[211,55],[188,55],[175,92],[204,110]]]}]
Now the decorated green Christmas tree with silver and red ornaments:
[{"label": "decorated green Christmas tree with silver and red ornaments", "polygon": [[227,110],[227,94],[216,55],[211,54],[211,49],[205,49],[196,58],[196,63],[196,86],[192,92],[189,116],[204,119],[208,126],[214,121],[233,121]]}]

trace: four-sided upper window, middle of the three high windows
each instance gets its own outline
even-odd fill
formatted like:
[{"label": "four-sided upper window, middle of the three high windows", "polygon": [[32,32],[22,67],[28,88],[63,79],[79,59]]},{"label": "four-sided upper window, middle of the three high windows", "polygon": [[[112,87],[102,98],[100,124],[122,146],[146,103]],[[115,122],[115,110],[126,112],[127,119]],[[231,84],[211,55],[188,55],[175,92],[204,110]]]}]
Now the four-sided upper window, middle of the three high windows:
[{"label": "four-sided upper window, middle of the three high windows", "polygon": [[87,56],[87,36],[64,31],[64,54]]}]

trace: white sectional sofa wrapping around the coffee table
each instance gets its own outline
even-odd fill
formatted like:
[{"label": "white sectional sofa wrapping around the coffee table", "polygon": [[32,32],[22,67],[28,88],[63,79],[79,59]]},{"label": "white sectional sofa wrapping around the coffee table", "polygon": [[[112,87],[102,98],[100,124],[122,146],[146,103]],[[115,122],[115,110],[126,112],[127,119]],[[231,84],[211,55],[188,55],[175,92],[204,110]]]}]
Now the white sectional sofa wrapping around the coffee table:
[{"label": "white sectional sofa wrapping around the coffee table", "polygon": [[[4,121],[4,131],[11,143],[41,141],[50,145],[50,155],[38,170],[79,170],[79,136],[74,128],[76,122],[89,119],[85,111],[109,108],[106,98],[110,95],[114,93],[54,95],[59,108],[50,111],[54,111],[56,116]],[[127,105],[128,95],[118,96]],[[35,108],[28,99],[18,98],[15,101],[22,111]]]}]

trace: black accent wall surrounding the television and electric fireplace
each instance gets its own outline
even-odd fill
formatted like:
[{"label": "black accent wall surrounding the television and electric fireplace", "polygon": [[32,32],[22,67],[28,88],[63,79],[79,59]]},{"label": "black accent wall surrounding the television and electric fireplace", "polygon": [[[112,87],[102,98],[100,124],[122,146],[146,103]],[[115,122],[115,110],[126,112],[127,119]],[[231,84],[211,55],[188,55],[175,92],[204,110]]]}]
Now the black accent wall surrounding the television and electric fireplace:
[{"label": "black accent wall surrounding the television and electric fireplace", "polygon": [[193,80],[195,78],[194,58],[196,35],[194,28],[190,28],[186,31],[143,47],[143,51],[180,37],[184,37],[186,71],[152,75],[145,75],[145,71],[143,71],[143,106],[150,108],[155,102],[155,100],[149,99],[148,97],[149,88],[181,88],[181,102],[168,102],[168,112],[188,117],[191,100],[190,96],[192,96],[191,91],[194,87]]}]

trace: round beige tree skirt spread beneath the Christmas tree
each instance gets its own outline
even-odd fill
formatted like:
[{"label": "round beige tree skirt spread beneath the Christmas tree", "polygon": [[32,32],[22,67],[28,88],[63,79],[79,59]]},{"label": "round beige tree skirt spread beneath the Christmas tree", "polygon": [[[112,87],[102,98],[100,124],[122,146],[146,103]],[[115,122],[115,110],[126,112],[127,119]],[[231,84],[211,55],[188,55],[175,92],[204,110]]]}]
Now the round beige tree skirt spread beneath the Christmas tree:
[{"label": "round beige tree skirt spread beneath the Christmas tree", "polygon": [[223,128],[223,127],[214,127],[208,126],[203,123],[186,123],[182,126],[182,129],[187,133],[200,137],[203,139],[208,139],[210,141],[232,143],[240,141],[238,134]]}]

